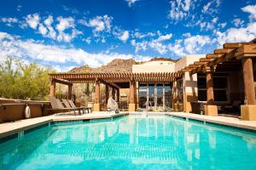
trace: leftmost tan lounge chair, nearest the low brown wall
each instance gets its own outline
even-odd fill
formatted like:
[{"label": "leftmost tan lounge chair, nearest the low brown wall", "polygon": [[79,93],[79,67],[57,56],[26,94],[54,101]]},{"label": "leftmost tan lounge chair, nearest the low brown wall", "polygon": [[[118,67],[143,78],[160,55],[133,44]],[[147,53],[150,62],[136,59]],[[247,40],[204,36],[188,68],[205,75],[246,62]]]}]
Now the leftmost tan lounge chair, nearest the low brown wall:
[{"label": "leftmost tan lounge chair, nearest the low brown wall", "polygon": [[52,107],[52,109],[47,109],[46,111],[74,111],[74,114],[76,115],[76,111],[79,111],[80,114],[80,110],[77,108],[66,108],[61,104],[61,100],[60,99],[55,99],[55,97],[50,96],[49,97],[49,102],[50,105]]}]

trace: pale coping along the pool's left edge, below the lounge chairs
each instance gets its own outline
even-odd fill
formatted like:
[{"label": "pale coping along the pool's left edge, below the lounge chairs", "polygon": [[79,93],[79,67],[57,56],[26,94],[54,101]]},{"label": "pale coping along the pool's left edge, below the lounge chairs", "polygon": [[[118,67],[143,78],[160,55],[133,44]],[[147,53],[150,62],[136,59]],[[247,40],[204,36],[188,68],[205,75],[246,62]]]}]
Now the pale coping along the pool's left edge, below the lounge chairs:
[{"label": "pale coping along the pool's left edge, below the lounge chairs", "polygon": [[[93,113],[92,113],[93,114]],[[84,114],[86,115],[86,114]],[[59,117],[59,116],[43,116],[36,117],[32,119],[25,119],[16,122],[5,122],[0,124],[0,144],[6,140],[14,139],[19,137],[20,135],[24,135],[27,130],[32,130],[33,128],[37,128],[43,126],[47,123],[52,122],[73,122],[73,121],[88,121],[88,120],[96,120],[96,119],[113,119],[113,117],[118,116],[126,116],[129,113],[119,113],[119,114],[106,114],[106,115],[94,115],[94,116],[67,116],[67,117]]]}]

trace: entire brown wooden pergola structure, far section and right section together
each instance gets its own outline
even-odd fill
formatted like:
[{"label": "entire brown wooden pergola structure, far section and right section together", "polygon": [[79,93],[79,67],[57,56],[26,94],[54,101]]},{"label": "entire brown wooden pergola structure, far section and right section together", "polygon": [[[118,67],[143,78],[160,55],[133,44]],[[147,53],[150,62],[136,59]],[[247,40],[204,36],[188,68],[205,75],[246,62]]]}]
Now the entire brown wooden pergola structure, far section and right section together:
[{"label": "entire brown wooden pergola structure, far section and right section together", "polygon": [[[223,48],[214,50],[213,54],[207,54],[205,58],[195,61],[194,64],[185,66],[177,72],[154,72],[154,73],[55,73],[50,74],[51,88],[50,95],[55,95],[55,82],[68,85],[68,98],[72,94],[73,83],[95,83],[96,96],[94,111],[100,111],[100,83],[106,85],[106,97],[108,97],[108,87],[113,88],[113,93],[117,90],[119,100],[119,88],[130,88],[129,111],[136,108],[136,82],[175,82],[181,79],[183,74],[205,72],[207,77],[207,105],[205,113],[207,115],[218,115],[217,106],[214,105],[212,73],[215,71],[237,71],[243,72],[245,104],[241,107],[241,117],[247,120],[256,120],[256,100],[253,80],[253,60],[256,57],[256,38],[251,42],[228,42]],[[174,98],[175,98],[175,86]],[[113,95],[114,96],[114,95]]]}]

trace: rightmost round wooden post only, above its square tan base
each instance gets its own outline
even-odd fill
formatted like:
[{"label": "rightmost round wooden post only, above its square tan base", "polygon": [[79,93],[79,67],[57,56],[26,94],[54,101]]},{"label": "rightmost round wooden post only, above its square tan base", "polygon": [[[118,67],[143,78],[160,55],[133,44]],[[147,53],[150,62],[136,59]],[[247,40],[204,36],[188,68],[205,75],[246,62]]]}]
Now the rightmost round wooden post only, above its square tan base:
[{"label": "rightmost round wooden post only, above its square tan base", "polygon": [[255,89],[253,80],[253,60],[251,58],[243,58],[242,72],[244,82],[244,92],[247,105],[255,105]]}]

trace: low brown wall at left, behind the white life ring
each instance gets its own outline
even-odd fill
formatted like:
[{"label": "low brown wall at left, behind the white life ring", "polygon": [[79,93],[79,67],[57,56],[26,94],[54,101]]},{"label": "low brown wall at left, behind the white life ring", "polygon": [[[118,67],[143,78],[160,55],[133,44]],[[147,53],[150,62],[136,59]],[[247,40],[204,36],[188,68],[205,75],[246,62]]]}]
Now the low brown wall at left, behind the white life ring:
[{"label": "low brown wall at left, behind the white life ring", "polygon": [[51,108],[47,101],[0,99],[0,123],[25,119],[26,105],[30,107],[31,118],[52,114],[50,111],[45,111]]}]

